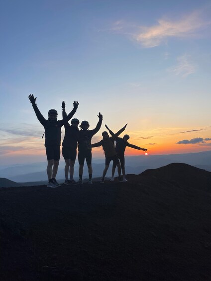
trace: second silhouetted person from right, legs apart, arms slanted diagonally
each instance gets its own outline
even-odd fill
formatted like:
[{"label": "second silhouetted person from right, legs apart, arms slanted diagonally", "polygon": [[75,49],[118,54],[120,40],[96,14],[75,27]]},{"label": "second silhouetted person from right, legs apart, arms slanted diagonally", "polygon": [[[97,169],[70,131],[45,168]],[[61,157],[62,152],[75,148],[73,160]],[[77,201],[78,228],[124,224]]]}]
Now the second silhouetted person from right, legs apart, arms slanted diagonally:
[{"label": "second silhouetted person from right, legs apart, arms slanted diagonally", "polygon": [[118,180],[119,182],[122,182],[121,180],[121,166],[117,157],[117,152],[115,151],[114,147],[114,141],[117,139],[118,135],[120,135],[126,128],[127,124],[121,128],[117,133],[113,134],[111,137],[109,137],[108,133],[104,131],[102,133],[103,139],[100,142],[92,144],[92,147],[98,147],[103,146],[103,150],[105,152],[106,156],[106,165],[105,169],[103,171],[103,176],[101,180],[101,184],[104,184],[104,179],[106,177],[107,169],[109,167],[110,161],[113,161],[118,169]]}]

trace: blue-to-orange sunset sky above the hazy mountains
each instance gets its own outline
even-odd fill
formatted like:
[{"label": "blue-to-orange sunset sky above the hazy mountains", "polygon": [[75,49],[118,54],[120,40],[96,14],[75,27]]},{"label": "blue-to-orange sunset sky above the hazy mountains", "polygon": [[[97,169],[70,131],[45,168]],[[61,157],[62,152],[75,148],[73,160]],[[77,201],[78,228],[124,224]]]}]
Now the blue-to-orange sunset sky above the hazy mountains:
[{"label": "blue-to-orange sunset sky above the hazy mountains", "polygon": [[210,1],[1,1],[0,34],[0,166],[46,160],[29,94],[46,119],[63,100],[90,129],[101,112],[93,143],[128,123],[149,155],[211,150]]}]

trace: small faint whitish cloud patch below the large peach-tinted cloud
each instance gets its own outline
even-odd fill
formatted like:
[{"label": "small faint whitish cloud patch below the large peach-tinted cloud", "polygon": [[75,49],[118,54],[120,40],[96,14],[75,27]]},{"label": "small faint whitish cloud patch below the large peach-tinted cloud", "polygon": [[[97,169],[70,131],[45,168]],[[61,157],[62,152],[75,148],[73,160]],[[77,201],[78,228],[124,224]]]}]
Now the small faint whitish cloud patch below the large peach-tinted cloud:
[{"label": "small faint whitish cloud patch below the large peach-tinted cloud", "polygon": [[168,69],[169,72],[173,72],[175,75],[187,77],[188,75],[195,73],[197,66],[191,62],[190,56],[183,55],[177,58],[177,64]]}]

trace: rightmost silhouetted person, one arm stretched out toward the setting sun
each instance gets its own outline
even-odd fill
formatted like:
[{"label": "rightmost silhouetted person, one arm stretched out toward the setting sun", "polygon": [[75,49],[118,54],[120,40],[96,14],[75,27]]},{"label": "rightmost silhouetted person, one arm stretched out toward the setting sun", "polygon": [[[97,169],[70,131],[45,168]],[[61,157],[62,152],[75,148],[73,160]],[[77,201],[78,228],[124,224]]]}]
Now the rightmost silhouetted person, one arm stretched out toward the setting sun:
[{"label": "rightmost silhouetted person, one arm stretched out toward the setting sun", "polygon": [[[106,126],[106,129],[109,131],[109,133],[111,134],[111,136],[114,135],[114,133],[108,128],[107,125]],[[124,163],[125,163],[125,160],[124,160],[124,152],[125,152],[125,148],[128,146],[128,147],[132,147],[134,149],[138,149],[138,150],[143,150],[143,151],[147,151],[146,148],[141,148],[139,146],[136,146],[134,144],[130,144],[128,143],[128,139],[130,137],[128,135],[124,135],[123,138],[116,138],[116,146],[115,146],[115,150],[117,152],[117,157],[120,161],[120,164],[121,164],[121,171],[122,171],[122,175],[123,175],[123,182],[127,182],[126,178],[125,178],[125,167],[124,167]],[[113,162],[113,166],[112,166],[112,177],[111,177],[111,182],[114,181],[114,173],[115,173],[115,168],[116,168],[116,164]]]}]

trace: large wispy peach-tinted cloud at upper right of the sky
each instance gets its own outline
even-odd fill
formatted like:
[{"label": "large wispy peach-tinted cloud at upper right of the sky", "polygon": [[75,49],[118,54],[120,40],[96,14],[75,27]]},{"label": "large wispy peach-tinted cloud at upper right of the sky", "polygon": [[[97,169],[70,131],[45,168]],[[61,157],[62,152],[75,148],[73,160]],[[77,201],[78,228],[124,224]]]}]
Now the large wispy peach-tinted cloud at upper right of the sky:
[{"label": "large wispy peach-tinted cloud at upper right of the sky", "polygon": [[187,38],[196,36],[210,20],[205,20],[202,11],[194,11],[180,19],[161,18],[153,26],[127,24],[123,20],[116,21],[111,30],[129,36],[145,48],[153,48],[166,42],[169,38]]}]

